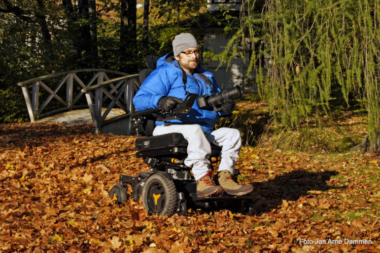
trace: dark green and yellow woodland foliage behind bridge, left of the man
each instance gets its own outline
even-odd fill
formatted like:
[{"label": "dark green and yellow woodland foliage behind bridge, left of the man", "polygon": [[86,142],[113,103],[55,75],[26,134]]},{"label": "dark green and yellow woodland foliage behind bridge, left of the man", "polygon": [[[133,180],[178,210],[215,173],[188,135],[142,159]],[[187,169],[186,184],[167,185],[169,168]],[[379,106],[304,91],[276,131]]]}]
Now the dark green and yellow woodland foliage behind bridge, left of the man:
[{"label": "dark green and yellow woodland foliage behind bridge, left of the man", "polygon": [[[7,7],[0,1],[0,122],[27,118],[25,101],[17,82],[52,72],[89,67],[134,73],[132,69],[145,67],[146,55],[161,56],[170,52],[174,36],[190,32],[188,28],[177,26],[176,17],[159,18],[154,10],[151,18],[155,20],[147,36],[143,37],[141,25],[137,26],[136,43],[129,45],[125,55],[120,54],[121,5],[97,1],[95,57],[87,50],[89,42],[83,45],[80,38],[80,29],[87,26],[90,19],[86,18],[86,13],[78,14],[75,6],[65,7],[60,2],[51,1],[43,2],[45,6],[27,1],[9,3],[19,6],[22,14],[5,13]],[[181,19],[194,16],[205,8],[204,1],[178,3]],[[191,9],[191,6],[196,9]],[[171,10],[164,11],[171,13]],[[41,25],[33,17],[36,13],[45,15],[51,34],[49,43],[44,42]]]}]

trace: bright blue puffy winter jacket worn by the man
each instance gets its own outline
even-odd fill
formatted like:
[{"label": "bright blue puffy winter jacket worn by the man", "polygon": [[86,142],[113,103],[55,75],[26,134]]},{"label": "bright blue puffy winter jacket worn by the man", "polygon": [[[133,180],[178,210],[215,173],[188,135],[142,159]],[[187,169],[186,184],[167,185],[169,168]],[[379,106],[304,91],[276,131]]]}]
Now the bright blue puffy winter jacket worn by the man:
[{"label": "bright blue puffy winter jacket worn by the man", "polygon": [[[161,57],[157,61],[157,68],[145,79],[139,91],[133,98],[133,104],[137,111],[144,111],[158,107],[158,101],[163,96],[186,98],[186,92],[195,93],[198,97],[212,95],[220,92],[214,75],[204,69],[197,68],[195,72],[203,73],[213,85],[212,88],[197,74],[187,74],[186,92],[182,81],[182,70],[176,60],[165,61],[170,54]],[[180,119],[170,120],[172,123],[199,124],[205,133],[210,134],[219,119],[219,114],[214,111],[199,109],[195,101],[189,113],[182,115]],[[156,125],[165,122],[156,121]]]}]

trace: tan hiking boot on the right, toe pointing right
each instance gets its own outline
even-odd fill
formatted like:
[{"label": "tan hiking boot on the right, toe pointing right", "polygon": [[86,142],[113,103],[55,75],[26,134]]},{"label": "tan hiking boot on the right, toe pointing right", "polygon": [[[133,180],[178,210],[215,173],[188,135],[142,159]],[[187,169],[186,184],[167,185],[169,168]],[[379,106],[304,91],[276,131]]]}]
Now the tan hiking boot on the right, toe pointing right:
[{"label": "tan hiking boot on the right, toe pointing right", "polygon": [[241,196],[253,191],[252,185],[239,185],[229,171],[218,172],[217,178],[223,190],[230,195]]}]

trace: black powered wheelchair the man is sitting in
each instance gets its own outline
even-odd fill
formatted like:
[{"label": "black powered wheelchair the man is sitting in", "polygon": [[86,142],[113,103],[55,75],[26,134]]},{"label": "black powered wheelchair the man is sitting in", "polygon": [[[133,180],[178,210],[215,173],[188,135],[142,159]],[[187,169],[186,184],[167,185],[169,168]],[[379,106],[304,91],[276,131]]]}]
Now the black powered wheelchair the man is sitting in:
[{"label": "black powered wheelchair the man is sitting in", "polygon": [[[241,96],[241,91],[237,92],[240,92]],[[142,198],[143,206],[148,214],[160,216],[171,216],[175,213],[185,215],[190,206],[215,208],[228,205],[239,206],[239,211],[246,215],[253,214],[251,194],[232,196],[224,193],[218,197],[198,197],[196,180],[190,172],[191,168],[184,164],[188,143],[183,135],[170,133],[152,136],[156,120],[166,121],[181,117],[182,114],[190,111],[196,99],[199,99],[197,95],[190,93],[180,106],[170,111],[157,108],[131,115],[132,125],[138,137],[135,141],[136,157],[142,158],[151,168],[149,172],[140,172],[136,177],[120,175],[119,183],[110,190],[110,198],[119,204],[129,197],[134,201],[140,201]],[[139,129],[144,130],[146,137],[140,137]],[[211,146],[210,169],[213,170],[218,162],[221,147],[213,144]],[[238,170],[235,170],[235,179],[238,174]],[[127,194],[129,187],[131,188],[130,196]]]}]

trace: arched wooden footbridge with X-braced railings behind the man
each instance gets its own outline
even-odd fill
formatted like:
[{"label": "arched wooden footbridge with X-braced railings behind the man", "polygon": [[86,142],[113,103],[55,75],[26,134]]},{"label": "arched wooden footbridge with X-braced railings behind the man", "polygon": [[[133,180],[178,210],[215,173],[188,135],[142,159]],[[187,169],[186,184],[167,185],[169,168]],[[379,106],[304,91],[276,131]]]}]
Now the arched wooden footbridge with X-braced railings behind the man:
[{"label": "arched wooden footbridge with X-braced railings behind the man", "polygon": [[[140,88],[137,78],[138,74],[80,69],[29,79],[18,86],[22,88],[31,122],[63,111],[88,108],[95,133],[130,135],[132,99]],[[65,89],[61,89],[63,86]],[[124,113],[108,117],[113,108]]]}]

